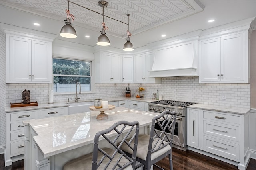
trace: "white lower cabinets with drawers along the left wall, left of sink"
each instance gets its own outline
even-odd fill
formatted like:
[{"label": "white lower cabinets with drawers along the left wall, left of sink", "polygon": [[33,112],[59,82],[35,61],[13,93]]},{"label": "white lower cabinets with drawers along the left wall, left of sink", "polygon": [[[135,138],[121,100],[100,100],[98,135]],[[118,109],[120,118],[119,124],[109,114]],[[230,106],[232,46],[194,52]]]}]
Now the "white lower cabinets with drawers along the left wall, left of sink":
[{"label": "white lower cabinets with drawers along the left wall, left of sink", "polygon": [[24,125],[22,121],[40,119],[59,115],[67,115],[68,107],[37,109],[30,111],[15,111],[6,113],[6,149],[4,152],[5,166],[24,159]]}]

